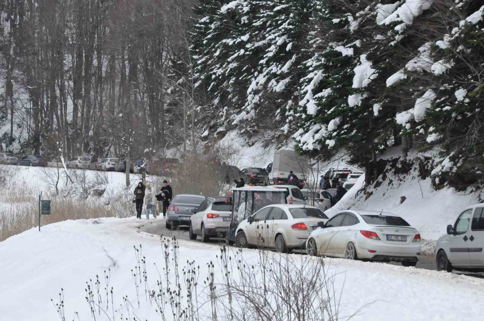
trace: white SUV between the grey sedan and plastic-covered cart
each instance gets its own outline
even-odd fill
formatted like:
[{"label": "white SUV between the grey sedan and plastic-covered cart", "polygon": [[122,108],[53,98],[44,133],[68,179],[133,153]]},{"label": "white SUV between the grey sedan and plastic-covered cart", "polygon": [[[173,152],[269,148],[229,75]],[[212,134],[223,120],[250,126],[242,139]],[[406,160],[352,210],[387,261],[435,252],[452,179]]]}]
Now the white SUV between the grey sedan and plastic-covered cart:
[{"label": "white SUV between the grey sedan and plastic-covered cart", "polygon": [[207,242],[211,236],[226,235],[232,220],[232,203],[225,197],[208,197],[200,206],[192,209],[190,217],[190,239],[200,235],[202,242]]}]

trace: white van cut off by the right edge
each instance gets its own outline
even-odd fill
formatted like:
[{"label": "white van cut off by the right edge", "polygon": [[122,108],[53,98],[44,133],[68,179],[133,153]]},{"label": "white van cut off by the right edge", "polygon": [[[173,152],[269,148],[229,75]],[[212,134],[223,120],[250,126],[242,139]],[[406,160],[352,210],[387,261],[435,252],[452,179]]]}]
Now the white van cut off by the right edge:
[{"label": "white van cut off by the right edge", "polygon": [[436,244],[438,271],[484,271],[484,204],[466,208]]}]

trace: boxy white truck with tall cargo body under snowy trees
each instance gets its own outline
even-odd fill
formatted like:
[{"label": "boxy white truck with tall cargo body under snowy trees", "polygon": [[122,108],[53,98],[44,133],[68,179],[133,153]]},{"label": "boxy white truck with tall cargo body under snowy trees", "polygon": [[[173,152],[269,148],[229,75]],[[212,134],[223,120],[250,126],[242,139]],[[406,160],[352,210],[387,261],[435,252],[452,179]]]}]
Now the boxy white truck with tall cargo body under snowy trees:
[{"label": "boxy white truck with tall cargo body under snowy trees", "polygon": [[267,185],[283,184],[287,182],[287,176],[292,171],[299,179],[306,179],[308,176],[309,160],[303,156],[296,155],[294,150],[279,149],[274,152],[272,163],[267,165]]}]

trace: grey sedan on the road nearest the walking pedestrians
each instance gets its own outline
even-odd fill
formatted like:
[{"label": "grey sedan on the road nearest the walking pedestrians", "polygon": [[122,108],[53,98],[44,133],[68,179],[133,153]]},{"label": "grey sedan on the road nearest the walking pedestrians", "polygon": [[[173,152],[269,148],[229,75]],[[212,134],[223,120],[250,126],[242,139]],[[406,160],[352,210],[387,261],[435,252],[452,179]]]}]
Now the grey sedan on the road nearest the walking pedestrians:
[{"label": "grey sedan on the road nearest the walking pedestrians", "polygon": [[171,201],[166,213],[166,228],[180,225],[190,225],[190,218],[193,215],[192,209],[197,208],[205,201],[205,196],[197,194],[178,194]]}]

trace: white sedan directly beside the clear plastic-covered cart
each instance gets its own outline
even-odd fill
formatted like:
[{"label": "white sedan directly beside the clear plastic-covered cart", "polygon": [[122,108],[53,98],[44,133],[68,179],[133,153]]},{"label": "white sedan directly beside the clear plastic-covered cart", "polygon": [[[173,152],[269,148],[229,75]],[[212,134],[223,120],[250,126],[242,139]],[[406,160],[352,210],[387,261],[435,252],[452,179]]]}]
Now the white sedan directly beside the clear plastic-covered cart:
[{"label": "white sedan directly beside the clear plastic-covered cart", "polygon": [[235,243],[275,248],[277,252],[302,249],[311,231],[328,217],[317,207],[300,204],[272,204],[239,223]]}]

